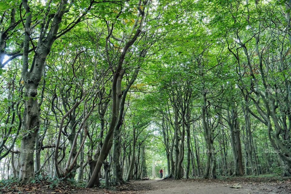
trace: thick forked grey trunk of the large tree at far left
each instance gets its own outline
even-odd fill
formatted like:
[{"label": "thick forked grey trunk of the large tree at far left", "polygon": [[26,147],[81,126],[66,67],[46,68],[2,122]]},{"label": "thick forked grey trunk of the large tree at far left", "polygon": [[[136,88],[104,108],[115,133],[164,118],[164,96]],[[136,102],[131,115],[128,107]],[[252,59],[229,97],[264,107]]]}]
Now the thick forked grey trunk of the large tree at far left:
[{"label": "thick forked grey trunk of the large tree at far left", "polygon": [[[29,45],[30,45],[30,32],[25,32],[24,45],[23,45],[23,68],[22,77],[25,87],[25,107],[23,112],[22,128],[24,131],[28,131],[26,135],[22,136],[21,148],[20,148],[20,172],[19,180],[26,184],[31,179],[35,178],[34,174],[34,152],[35,141],[39,130],[39,104],[37,100],[37,89],[40,80],[42,79],[43,70],[45,66],[45,59],[50,52],[53,42],[56,39],[57,32],[59,30],[59,23],[62,21],[62,17],[67,12],[68,2],[62,0],[57,12],[52,18],[52,27],[50,28],[46,37],[45,32],[39,35],[38,43],[35,48],[35,55],[33,56],[32,64],[28,67],[29,59]],[[27,0],[22,1],[22,5],[26,12],[25,17],[25,29],[31,28],[32,23],[32,11],[28,5]],[[21,14],[21,13],[20,13]],[[46,17],[46,15],[45,15]],[[45,19],[42,24],[42,31],[44,30]]]}]

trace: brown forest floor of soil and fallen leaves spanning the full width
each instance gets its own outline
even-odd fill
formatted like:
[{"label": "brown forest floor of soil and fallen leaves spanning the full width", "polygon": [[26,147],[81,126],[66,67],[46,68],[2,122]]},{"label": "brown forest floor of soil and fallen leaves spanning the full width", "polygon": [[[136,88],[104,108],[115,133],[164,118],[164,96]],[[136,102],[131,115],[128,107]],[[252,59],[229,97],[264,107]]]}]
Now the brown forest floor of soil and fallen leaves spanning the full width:
[{"label": "brown forest floor of soil and fallen leaves spanning the full width", "polygon": [[[18,187],[19,188],[19,187]],[[22,189],[19,189],[22,190]],[[18,191],[19,191],[18,190]],[[115,190],[108,189],[73,189],[71,187],[61,189],[23,189],[24,193],[78,193],[78,194],[117,194],[117,193],[141,193],[141,194],[290,194],[290,179],[273,178],[232,178],[232,179],[183,179],[183,180],[145,180],[130,181],[128,184],[118,186]],[[20,193],[22,193],[20,192]],[[14,194],[14,191],[0,190],[0,193]]]}]

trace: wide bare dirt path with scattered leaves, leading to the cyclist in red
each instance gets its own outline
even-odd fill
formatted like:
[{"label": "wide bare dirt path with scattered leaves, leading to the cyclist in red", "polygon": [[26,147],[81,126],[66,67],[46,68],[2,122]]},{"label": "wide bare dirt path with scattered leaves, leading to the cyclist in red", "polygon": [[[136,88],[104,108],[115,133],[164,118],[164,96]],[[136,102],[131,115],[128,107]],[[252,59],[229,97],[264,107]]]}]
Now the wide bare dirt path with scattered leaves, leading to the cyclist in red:
[{"label": "wide bare dirt path with scattered leaves, leading to the cyclist in red", "polygon": [[[290,185],[290,182],[286,182]],[[138,185],[141,194],[275,194],[291,193],[290,187],[278,182],[243,182],[213,180],[147,180],[133,181],[130,185]],[[285,187],[286,186],[286,187]],[[237,188],[232,188],[237,187]],[[135,192],[134,192],[135,193]]]}]

